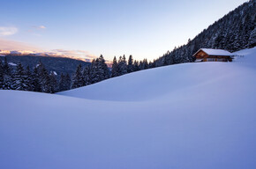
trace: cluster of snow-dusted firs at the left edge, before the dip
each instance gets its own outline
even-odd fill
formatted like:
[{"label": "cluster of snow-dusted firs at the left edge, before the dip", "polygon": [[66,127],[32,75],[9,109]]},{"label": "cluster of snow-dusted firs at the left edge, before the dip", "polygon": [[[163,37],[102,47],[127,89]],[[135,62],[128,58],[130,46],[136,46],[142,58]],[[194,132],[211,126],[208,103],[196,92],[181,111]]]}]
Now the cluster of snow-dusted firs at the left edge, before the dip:
[{"label": "cluster of snow-dusted firs at the left edge, before the dip", "polygon": [[[66,83],[69,79],[69,75],[65,75]],[[4,57],[4,62],[0,60],[0,89],[54,93],[60,88],[55,72],[46,70],[41,61],[30,70],[21,63],[11,67]]]}]

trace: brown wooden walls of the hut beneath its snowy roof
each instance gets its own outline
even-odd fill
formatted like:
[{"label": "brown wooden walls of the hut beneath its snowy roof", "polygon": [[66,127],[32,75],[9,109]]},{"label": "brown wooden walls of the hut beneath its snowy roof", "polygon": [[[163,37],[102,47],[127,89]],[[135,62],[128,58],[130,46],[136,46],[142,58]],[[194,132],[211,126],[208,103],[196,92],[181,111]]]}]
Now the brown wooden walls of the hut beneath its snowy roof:
[{"label": "brown wooden walls of the hut beneath its snowy roof", "polygon": [[196,61],[200,62],[232,62],[231,55],[208,55],[203,50],[198,51],[194,56]]}]

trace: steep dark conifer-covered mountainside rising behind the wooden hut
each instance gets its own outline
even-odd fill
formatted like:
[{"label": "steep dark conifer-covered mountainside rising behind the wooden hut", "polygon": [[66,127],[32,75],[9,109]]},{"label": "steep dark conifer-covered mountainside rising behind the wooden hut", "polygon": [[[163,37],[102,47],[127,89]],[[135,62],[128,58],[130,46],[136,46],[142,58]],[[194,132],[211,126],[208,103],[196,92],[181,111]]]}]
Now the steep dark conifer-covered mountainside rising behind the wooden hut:
[{"label": "steep dark conifer-covered mountainside rising behind the wooden hut", "polygon": [[154,61],[155,66],[192,62],[200,48],[221,48],[234,52],[256,46],[256,1],[250,0],[208,26],[186,45],[167,52]]}]

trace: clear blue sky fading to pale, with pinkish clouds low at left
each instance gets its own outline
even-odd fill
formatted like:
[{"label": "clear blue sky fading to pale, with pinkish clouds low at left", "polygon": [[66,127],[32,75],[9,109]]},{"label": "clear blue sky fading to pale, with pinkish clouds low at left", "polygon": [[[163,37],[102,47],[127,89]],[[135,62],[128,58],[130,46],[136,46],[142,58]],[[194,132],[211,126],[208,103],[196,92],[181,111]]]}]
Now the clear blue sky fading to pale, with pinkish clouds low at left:
[{"label": "clear blue sky fading to pale, with pinkish clouds low at left", "polygon": [[245,0],[0,0],[0,49],[158,58]]}]

